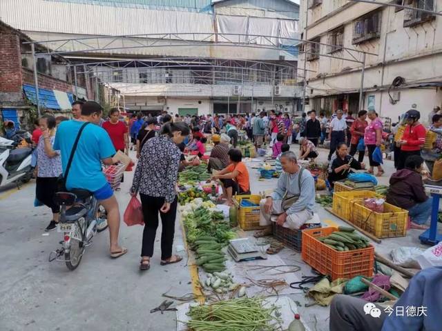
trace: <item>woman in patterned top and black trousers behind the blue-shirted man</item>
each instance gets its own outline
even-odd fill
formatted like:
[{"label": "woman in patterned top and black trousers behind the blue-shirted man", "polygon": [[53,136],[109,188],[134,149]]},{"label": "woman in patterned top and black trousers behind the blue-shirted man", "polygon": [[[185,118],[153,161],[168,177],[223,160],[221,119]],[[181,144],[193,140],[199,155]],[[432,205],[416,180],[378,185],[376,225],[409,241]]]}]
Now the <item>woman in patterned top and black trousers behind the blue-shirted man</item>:
[{"label": "woman in patterned top and black trousers behind the blue-shirted man", "polygon": [[55,141],[55,117],[44,115],[39,120],[40,130],[43,132],[37,144],[37,185],[35,196],[37,200],[52,210],[52,220],[45,231],[55,230],[59,219],[60,206],[54,202],[55,191],[57,190],[57,179],[60,176],[61,157],[59,151],[53,150]]}]

